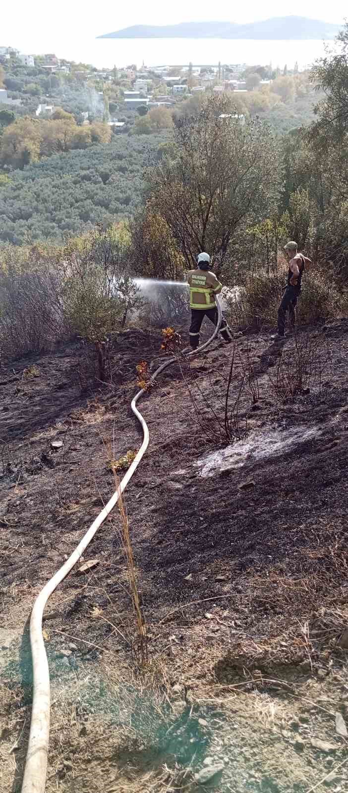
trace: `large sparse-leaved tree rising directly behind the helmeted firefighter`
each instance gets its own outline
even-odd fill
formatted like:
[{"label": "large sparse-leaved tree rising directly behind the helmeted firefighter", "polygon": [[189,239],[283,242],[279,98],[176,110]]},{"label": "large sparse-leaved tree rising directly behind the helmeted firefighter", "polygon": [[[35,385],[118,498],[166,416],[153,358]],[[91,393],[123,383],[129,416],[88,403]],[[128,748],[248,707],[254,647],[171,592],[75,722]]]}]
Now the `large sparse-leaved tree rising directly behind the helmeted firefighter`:
[{"label": "large sparse-leaved tree rising directly behind the helmeted firefighter", "polygon": [[197,252],[223,262],[232,236],[272,207],[280,189],[277,142],[259,121],[221,118],[224,98],[174,128],[174,157],[149,171],[151,206],[166,220],[188,266]]}]

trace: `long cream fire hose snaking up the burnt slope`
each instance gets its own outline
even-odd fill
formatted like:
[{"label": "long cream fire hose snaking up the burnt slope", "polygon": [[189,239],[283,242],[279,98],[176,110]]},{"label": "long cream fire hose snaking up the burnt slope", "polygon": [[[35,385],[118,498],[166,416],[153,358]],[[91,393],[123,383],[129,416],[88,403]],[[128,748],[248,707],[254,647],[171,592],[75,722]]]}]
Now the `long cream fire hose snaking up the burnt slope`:
[{"label": "long cream fire hose snaking up the burnt slope", "polygon": [[[212,336],[207,342],[201,344],[197,350],[192,350],[190,352],[184,351],[185,358],[189,358],[194,354],[201,354],[207,349],[207,347],[210,346],[214,339],[216,339],[216,335],[220,330],[222,319],[220,303],[217,299],[216,305],[218,319]],[[162,363],[157,370],[155,370],[155,373],[151,375],[151,381],[155,380],[156,377],[161,374],[161,372],[163,372],[176,360],[176,356],[167,358],[166,361]],[[58,584],[63,581],[63,579],[67,576],[67,573],[70,573],[71,569],[76,565],[78,559],[82,556],[86,550],[86,547],[89,546],[91,540],[94,538],[94,534],[96,534],[98,528],[101,527],[101,523],[105,521],[105,518],[107,518],[115,504],[117,504],[120,493],[122,493],[124,488],[127,487],[128,482],[132,479],[133,473],[135,473],[140,463],[140,460],[143,458],[143,454],[145,454],[145,451],[147,450],[150,440],[147,423],[136,407],[136,403],[138,400],[140,400],[140,397],[143,396],[145,390],[146,389],[141,389],[138,391],[131,404],[132,412],[138,421],[140,421],[143,430],[143,443],[140,446],[140,450],[136,454],[132,465],[129,466],[128,471],[125,473],[122,481],[120,481],[120,485],[113,493],[113,496],[110,498],[104,509],[101,510],[88,531],[86,531],[86,534],[82,538],[81,542],[78,543],[78,546],[75,548],[71,556],[62,565],[62,567],[57,570],[55,575],[48,581],[48,583],[45,584],[44,588],[41,589],[33,605],[29,629],[33,664],[33,705],[29,743],[25,760],[25,772],[21,793],[44,793],[46,783],[51,703],[48,657],[46,655],[44,638],[42,635],[44,607],[48,602],[48,598],[52,595],[52,592],[55,591],[55,588],[57,588]]]}]

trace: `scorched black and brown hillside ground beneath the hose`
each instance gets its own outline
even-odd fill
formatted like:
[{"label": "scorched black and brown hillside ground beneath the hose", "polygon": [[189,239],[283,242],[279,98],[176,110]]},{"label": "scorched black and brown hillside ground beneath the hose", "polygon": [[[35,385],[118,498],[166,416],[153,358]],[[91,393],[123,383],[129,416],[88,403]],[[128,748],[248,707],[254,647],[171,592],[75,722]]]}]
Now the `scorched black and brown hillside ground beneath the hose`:
[{"label": "scorched black and brown hillside ground beneath the hose", "polygon": [[[305,793],[326,778],[345,789],[335,714],[347,721],[347,657],[337,639],[348,616],[348,323],[302,328],[297,341],[319,349],[321,376],[280,404],[270,336],[237,339],[232,400],[248,357],[260,393],[240,408],[247,435],[229,451],[202,430],[193,400],[206,429],[202,398],[213,394],[220,410],[231,352],[168,370],[143,399],[151,443],[125,504],[149,666],[139,681],[115,511],[86,551],[96,568],[75,569],[46,609],[48,793],[190,793],[193,773],[216,762],[218,793]],[[113,435],[115,458],[140,446],[129,412],[136,364],[157,358],[160,343],[155,333],[117,335],[113,385],[85,396],[82,348],[2,365],[3,791],[20,786],[29,730],[25,621],[113,492]],[[289,351],[294,357],[291,339]]]}]

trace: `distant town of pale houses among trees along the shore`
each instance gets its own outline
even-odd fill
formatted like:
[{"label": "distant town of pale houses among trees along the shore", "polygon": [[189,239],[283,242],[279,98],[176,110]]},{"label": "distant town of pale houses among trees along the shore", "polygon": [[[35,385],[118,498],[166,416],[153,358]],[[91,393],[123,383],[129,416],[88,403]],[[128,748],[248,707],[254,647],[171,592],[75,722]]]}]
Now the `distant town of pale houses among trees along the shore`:
[{"label": "distant town of pale houses among trees along the shore", "polygon": [[[246,63],[186,63],[151,68],[143,63],[140,68],[131,64],[98,70],[90,64],[59,59],[54,54],[35,56],[5,46],[0,47],[0,67],[1,64],[5,70],[0,87],[2,106],[26,109],[37,117],[50,117],[55,112],[57,98],[62,105],[74,86],[75,89],[87,87],[97,92],[98,102],[94,102],[92,108],[90,99],[86,99],[86,106],[83,106],[81,98],[79,122],[88,124],[90,117],[97,113],[97,117],[115,127],[115,131],[126,126],[127,118],[120,121],[120,113],[158,107],[170,109],[206,91],[233,92],[235,97],[254,90],[267,91],[273,81],[285,73],[298,74],[296,63],[293,69],[285,67],[282,72],[279,68],[273,69],[272,64],[258,67],[256,73],[249,67],[249,74]],[[74,107],[67,109],[75,111]]]}]

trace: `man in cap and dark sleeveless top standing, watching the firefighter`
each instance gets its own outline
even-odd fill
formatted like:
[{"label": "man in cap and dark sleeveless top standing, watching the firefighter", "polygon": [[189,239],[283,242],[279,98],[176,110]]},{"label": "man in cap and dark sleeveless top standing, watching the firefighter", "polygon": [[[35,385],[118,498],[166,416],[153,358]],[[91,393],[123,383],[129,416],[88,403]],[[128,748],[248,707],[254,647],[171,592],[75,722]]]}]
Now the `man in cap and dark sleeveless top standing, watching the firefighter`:
[{"label": "man in cap and dark sleeveless top standing, watching the firefighter", "polygon": [[285,252],[289,257],[289,272],[288,282],[285,286],[284,295],[281,300],[281,305],[278,308],[278,332],[277,338],[283,339],[285,335],[285,318],[286,312],[289,311],[289,323],[292,328],[296,324],[296,304],[300,296],[301,281],[306,266],[312,264],[311,259],[304,256],[303,253],[297,253],[297,243],[290,241],[285,245]]}]

